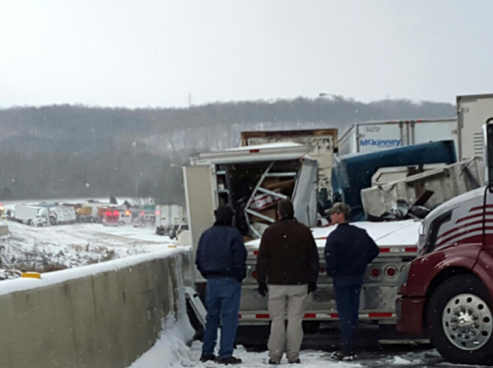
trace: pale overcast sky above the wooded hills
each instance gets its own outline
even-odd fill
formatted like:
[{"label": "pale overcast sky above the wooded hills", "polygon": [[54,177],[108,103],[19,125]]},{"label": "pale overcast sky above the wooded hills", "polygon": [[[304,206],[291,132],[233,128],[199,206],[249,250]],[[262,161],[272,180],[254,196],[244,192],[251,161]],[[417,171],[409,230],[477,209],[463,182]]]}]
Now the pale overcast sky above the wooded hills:
[{"label": "pale overcast sky above the wooded hills", "polygon": [[493,93],[490,0],[0,0],[0,108]]}]

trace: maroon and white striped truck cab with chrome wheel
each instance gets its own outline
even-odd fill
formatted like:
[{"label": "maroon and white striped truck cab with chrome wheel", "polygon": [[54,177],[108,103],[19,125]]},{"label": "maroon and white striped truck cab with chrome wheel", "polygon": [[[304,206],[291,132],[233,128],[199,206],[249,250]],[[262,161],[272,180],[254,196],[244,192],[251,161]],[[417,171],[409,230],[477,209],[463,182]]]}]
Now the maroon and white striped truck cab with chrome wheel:
[{"label": "maroon and white striped truck cab with chrome wheel", "polygon": [[422,221],[396,301],[397,330],[425,333],[444,358],[473,365],[493,362],[493,119],[483,137],[487,185]]}]

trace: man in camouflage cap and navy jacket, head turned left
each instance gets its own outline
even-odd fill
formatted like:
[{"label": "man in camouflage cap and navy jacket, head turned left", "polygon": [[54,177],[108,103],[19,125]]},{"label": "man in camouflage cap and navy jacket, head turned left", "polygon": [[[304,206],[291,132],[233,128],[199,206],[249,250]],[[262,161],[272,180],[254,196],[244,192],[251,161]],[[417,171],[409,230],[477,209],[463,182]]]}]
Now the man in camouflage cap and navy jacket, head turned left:
[{"label": "man in camouflage cap and navy jacket, head turned left", "polygon": [[327,237],[324,255],[327,275],[333,281],[342,346],[332,358],[353,360],[363,274],[368,263],[378,256],[379,248],[366,230],[349,225],[351,208],[347,204],[338,202],[328,212],[331,223],[338,225]]}]

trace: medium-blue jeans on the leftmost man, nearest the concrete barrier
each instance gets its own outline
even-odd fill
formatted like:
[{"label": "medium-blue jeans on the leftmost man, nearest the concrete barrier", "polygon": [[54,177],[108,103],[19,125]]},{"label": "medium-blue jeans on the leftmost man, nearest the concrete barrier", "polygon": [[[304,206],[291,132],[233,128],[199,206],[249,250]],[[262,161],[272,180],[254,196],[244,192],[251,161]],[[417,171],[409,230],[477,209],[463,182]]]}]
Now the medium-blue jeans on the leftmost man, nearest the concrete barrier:
[{"label": "medium-blue jeans on the leftmost man, nearest the concrete barrier", "polygon": [[241,283],[232,278],[212,278],[207,280],[207,295],[203,354],[214,354],[217,329],[221,321],[219,356],[233,355],[233,345],[238,328],[240,312]]}]

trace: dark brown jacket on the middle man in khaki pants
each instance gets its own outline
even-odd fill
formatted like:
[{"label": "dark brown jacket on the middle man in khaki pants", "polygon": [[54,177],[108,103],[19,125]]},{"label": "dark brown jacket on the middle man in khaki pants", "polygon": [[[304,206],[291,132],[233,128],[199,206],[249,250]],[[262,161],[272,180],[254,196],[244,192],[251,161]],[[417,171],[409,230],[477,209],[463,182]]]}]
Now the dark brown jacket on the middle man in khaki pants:
[{"label": "dark brown jacket on the middle man in khaki pants", "polygon": [[282,219],[262,235],[257,255],[257,282],[297,285],[316,282],[318,251],[312,232],[296,219]]}]

